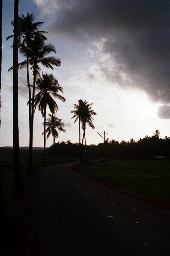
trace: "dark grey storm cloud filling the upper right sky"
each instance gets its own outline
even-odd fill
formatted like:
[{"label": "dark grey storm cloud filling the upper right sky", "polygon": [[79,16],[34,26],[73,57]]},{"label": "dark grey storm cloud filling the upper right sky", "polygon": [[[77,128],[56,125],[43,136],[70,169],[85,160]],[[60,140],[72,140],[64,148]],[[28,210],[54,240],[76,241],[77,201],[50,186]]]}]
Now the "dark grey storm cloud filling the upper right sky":
[{"label": "dark grey storm cloud filling the upper right sky", "polygon": [[73,0],[57,3],[59,11],[50,25],[57,33],[89,43],[106,39],[101,50],[109,53],[117,65],[117,69],[110,71],[107,63],[101,64],[108,79],[144,90],[153,100],[170,89],[168,1]]}]

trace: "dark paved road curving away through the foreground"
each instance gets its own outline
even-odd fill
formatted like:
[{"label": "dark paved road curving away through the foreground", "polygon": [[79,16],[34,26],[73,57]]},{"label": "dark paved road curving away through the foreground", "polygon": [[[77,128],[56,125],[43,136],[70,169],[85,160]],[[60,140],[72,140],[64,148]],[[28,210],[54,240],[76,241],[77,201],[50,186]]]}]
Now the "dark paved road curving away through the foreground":
[{"label": "dark paved road curving away through the foreground", "polygon": [[38,174],[43,256],[169,256],[170,213],[71,170]]}]

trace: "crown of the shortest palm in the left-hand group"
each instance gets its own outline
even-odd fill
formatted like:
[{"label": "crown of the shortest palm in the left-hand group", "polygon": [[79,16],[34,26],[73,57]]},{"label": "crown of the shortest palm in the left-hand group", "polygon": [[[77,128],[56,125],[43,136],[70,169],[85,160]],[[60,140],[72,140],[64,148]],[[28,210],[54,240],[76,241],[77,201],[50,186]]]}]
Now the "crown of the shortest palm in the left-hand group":
[{"label": "crown of the shortest palm in the left-hand group", "polygon": [[[53,136],[53,144],[56,144],[55,140],[58,138],[59,134],[58,131],[62,131],[62,132],[66,132],[66,130],[64,130],[64,123],[62,123],[62,119],[59,119],[58,117],[56,117],[56,115],[54,114],[49,114],[50,118],[46,119],[46,133],[47,133],[47,139],[50,137],[50,135],[52,134]],[[44,123],[43,123],[44,126]],[[44,132],[42,133],[44,134]],[[68,143],[67,143],[68,144]]]}]

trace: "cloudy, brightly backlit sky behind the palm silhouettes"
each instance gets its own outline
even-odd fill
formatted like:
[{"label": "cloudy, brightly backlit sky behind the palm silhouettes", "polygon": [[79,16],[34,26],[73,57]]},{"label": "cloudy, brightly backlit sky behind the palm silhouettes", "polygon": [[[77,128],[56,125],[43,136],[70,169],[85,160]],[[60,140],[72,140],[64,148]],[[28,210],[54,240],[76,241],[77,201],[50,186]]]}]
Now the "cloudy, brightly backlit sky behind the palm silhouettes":
[{"label": "cloudy, brightly backlit sky behind the palm silhouettes", "polygon": [[[7,71],[12,66],[12,40],[6,37],[12,34],[13,6],[13,0],[3,1],[1,146],[12,146],[12,72]],[[119,142],[152,136],[156,129],[162,138],[170,136],[170,92],[165,94],[170,90],[169,10],[170,3],[160,0],[19,0],[19,15],[34,13],[35,21],[44,22],[47,43],[55,46],[62,62],[47,70],[66,98],[64,103],[57,100],[56,115],[66,129],[58,141],[79,141],[78,122],[71,119],[79,99],[93,103],[97,113],[95,129],[86,128],[88,145],[101,143],[97,132],[104,130],[106,138]],[[20,146],[28,146],[26,70],[18,75]],[[43,146],[42,122],[37,109],[33,146]],[[52,143],[51,136],[47,147]]]}]

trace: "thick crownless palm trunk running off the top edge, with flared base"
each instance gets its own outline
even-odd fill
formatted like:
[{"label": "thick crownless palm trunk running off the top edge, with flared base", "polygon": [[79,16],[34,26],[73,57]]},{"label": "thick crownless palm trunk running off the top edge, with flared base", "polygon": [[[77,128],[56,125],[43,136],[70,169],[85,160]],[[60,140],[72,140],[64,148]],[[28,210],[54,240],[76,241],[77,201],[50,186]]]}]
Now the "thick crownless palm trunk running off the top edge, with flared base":
[{"label": "thick crownless palm trunk running off the top edge, with flared base", "polygon": [[24,187],[21,181],[18,127],[18,2],[14,2],[14,43],[13,43],[13,163],[15,196],[22,196]]}]

